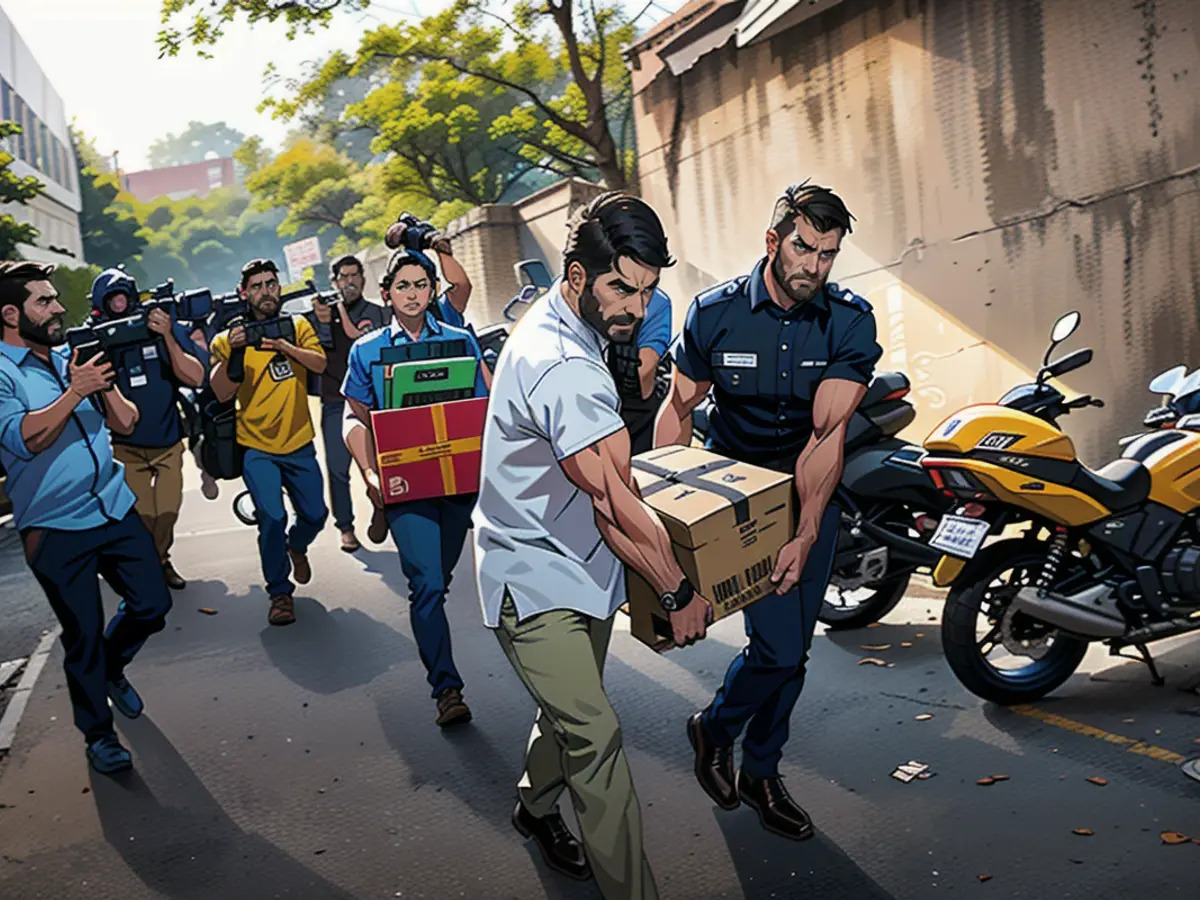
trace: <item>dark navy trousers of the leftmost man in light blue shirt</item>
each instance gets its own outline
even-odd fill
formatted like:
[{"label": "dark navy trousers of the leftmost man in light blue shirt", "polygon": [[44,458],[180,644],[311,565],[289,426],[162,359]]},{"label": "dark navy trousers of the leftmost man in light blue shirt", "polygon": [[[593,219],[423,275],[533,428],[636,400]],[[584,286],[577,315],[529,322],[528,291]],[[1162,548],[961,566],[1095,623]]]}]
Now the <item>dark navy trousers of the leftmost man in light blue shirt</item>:
[{"label": "dark navy trousers of the leftmost man in light blue shirt", "polygon": [[[90,744],[113,733],[106,684],[167,624],[170,592],[158,551],[136,510],[90,532],[31,528],[23,538],[29,568],[62,625],[74,722]],[[121,598],[107,629],[101,577]]]}]

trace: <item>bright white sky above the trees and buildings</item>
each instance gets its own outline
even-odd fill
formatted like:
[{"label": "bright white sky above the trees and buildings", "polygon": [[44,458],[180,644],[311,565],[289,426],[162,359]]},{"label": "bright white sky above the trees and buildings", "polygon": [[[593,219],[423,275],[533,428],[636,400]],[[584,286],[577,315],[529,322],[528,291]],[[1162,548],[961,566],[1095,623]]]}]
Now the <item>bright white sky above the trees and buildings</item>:
[{"label": "bright white sky above the trees and buildings", "polygon": [[[624,0],[636,12],[646,0]],[[145,168],[150,144],[179,133],[190,121],[224,121],[277,145],[290,127],[256,112],[265,96],[263,70],[275,62],[283,76],[302,71],[335,49],[353,50],[360,35],[382,22],[418,18],[446,0],[374,0],[364,13],[342,14],[328,29],[284,37],[286,25],[251,29],[236,23],[198,59],[181,50],[158,59],[160,0],[0,0],[42,71],[74,119],[102,154],[120,151],[121,168]],[[649,26],[683,0],[656,0],[640,20]]]}]

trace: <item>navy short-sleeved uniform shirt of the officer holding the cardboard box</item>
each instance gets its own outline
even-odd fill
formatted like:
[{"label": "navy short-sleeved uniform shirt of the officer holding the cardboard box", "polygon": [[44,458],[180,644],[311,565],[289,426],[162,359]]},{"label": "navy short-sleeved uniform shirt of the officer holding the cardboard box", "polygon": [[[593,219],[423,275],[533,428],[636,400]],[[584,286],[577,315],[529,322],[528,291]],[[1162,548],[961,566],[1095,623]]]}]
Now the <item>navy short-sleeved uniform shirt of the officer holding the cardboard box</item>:
[{"label": "navy short-sleeved uniform shirt of the officer holding the cardboard box", "polygon": [[817,385],[870,383],[882,349],[866,300],[826,284],[781,310],[767,293],[766,264],[692,301],[673,359],[685,377],[713,385],[712,450],[787,470],[812,436]]}]

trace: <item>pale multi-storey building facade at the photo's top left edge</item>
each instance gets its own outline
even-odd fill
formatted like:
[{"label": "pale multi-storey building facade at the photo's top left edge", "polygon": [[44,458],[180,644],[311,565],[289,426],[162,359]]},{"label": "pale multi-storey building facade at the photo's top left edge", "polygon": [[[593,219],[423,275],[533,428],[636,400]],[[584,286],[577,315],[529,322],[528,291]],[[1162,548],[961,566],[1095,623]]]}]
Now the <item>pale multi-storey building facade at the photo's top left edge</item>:
[{"label": "pale multi-storey building facade at the photo's top left edge", "polygon": [[12,22],[0,10],[0,119],[24,132],[4,142],[10,170],[34,175],[46,191],[28,205],[0,204],[0,215],[28,222],[41,233],[37,246],[19,247],[26,259],[56,265],[84,264],[79,233],[79,175],[62,98],[37,65]]}]

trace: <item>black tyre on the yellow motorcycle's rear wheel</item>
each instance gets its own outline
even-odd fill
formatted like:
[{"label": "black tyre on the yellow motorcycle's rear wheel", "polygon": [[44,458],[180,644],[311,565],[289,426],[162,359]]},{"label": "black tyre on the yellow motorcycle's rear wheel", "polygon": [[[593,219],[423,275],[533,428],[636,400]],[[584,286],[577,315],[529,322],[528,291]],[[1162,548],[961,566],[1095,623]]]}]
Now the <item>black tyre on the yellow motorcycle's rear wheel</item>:
[{"label": "black tyre on the yellow motorcycle's rear wheel", "polygon": [[[977,697],[1000,706],[1040,700],[1070,678],[1087,653],[1087,641],[1061,631],[1051,631],[1054,643],[1045,655],[1031,660],[1022,668],[997,670],[988,661],[986,654],[980,653],[982,642],[977,637],[976,626],[979,617],[988,614],[983,607],[990,600],[989,592],[994,589],[994,582],[1002,575],[1016,572],[1032,574],[1036,578],[1045,563],[1045,547],[1027,540],[994,544],[964,569],[946,599],[942,612],[942,649],[946,661],[962,685]],[[1012,600],[996,599],[991,602],[1000,605],[998,613],[1002,614]]]}]

